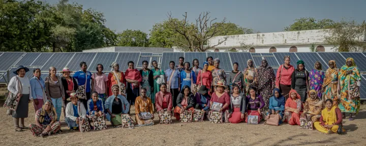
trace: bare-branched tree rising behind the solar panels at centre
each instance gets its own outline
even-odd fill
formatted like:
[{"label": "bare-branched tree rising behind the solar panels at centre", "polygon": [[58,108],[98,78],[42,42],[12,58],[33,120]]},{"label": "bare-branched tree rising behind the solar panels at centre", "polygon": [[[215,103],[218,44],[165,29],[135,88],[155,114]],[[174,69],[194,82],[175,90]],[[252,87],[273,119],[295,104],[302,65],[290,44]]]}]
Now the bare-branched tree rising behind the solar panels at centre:
[{"label": "bare-branched tree rising behind the solar panels at centre", "polygon": [[179,49],[190,52],[205,52],[226,41],[225,38],[214,46],[205,45],[207,40],[227,28],[227,26],[223,26],[226,22],[226,18],[216,22],[217,18],[211,19],[211,17],[208,16],[209,13],[210,12],[201,13],[198,18],[196,18],[195,23],[188,22],[187,12],[183,15],[184,18],[181,21],[175,21],[176,19],[172,17],[171,13],[168,13],[169,26],[186,39],[185,42],[175,42]]}]

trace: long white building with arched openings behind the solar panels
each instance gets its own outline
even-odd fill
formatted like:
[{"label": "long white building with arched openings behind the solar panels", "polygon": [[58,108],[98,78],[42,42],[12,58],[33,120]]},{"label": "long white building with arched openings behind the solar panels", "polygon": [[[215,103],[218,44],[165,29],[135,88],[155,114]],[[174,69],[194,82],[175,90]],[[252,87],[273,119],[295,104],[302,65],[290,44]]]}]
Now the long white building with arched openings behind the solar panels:
[{"label": "long white building with arched openings behind the solar panels", "polygon": [[[209,46],[217,45],[225,38],[227,40],[208,51],[224,52],[233,48],[242,51],[241,46],[245,44],[250,46],[248,49],[252,53],[310,52],[310,47],[314,44],[318,52],[334,52],[333,46],[325,42],[324,36],[327,35],[329,34],[324,29],[317,29],[215,36],[208,40]],[[362,38],[366,41],[366,35]]]}]

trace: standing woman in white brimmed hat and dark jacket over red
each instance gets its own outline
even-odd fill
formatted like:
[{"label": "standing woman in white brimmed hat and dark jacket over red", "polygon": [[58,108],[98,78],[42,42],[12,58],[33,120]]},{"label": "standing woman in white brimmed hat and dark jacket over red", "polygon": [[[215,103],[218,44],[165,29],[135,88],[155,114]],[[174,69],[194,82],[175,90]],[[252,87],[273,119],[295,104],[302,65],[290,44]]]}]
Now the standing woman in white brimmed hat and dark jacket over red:
[{"label": "standing woman in white brimmed hat and dark jacket over red", "polygon": [[[72,73],[72,71],[69,70],[68,67],[64,67],[64,69],[62,71],[59,71],[61,74],[63,74],[63,77],[61,77],[61,82],[63,84],[64,87],[64,95],[65,98],[68,99],[70,97],[71,93],[74,93],[78,86],[77,86],[77,82],[74,78],[70,77],[70,73]],[[64,100],[64,117],[66,117],[66,108],[65,106],[69,103],[69,100]],[[58,117],[60,117],[61,115],[58,115]]]}]

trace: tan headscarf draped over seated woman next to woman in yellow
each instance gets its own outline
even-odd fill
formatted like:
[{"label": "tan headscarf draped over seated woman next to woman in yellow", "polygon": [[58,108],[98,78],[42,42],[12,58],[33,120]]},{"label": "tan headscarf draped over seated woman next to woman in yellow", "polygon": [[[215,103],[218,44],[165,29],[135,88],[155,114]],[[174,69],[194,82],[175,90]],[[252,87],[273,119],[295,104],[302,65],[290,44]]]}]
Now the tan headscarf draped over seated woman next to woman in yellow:
[{"label": "tan headscarf draped over seated woman next to woman in yellow", "polygon": [[[310,97],[310,93],[314,92],[316,97],[314,99],[312,99]],[[305,104],[304,104],[304,113],[308,113],[308,114],[313,114],[313,115],[320,115],[321,114],[321,111],[323,109],[323,100],[320,100],[318,98],[318,93],[316,90],[312,89],[309,91],[309,97],[308,99],[305,101]]]}]

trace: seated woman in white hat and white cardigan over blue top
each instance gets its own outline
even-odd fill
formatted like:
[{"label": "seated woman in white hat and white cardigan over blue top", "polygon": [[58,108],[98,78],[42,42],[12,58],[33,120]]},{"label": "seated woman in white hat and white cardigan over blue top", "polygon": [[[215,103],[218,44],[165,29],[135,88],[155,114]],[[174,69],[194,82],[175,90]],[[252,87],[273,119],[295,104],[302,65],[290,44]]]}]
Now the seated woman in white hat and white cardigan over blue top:
[{"label": "seated woman in white hat and white cardigan over blue top", "polygon": [[82,123],[85,122],[86,119],[86,110],[85,106],[82,102],[79,102],[78,99],[81,99],[76,95],[76,93],[71,93],[70,97],[67,99],[71,102],[66,105],[66,118],[65,122],[68,124],[70,131],[79,129],[79,119],[82,119]]}]

